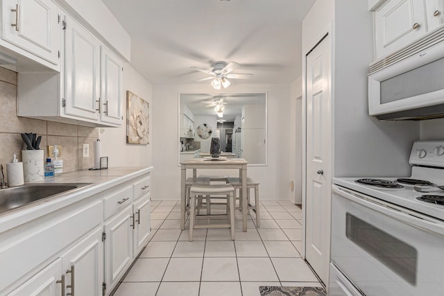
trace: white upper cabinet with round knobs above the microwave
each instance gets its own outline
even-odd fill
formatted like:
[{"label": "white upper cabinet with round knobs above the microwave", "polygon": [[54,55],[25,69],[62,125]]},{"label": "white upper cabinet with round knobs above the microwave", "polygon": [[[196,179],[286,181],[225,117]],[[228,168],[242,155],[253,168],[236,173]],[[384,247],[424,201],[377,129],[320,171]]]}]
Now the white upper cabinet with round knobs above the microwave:
[{"label": "white upper cabinet with round knobs above the microwave", "polygon": [[375,59],[408,46],[444,24],[444,0],[369,0],[375,25]]}]

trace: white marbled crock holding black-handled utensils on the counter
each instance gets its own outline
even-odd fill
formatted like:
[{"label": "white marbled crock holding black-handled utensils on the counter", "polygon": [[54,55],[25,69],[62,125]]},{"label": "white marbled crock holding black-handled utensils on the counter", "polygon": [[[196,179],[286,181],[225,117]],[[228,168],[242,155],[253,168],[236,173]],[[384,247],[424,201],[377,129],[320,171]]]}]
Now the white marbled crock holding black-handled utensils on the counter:
[{"label": "white marbled crock holding black-handled utensils on the counter", "polygon": [[44,177],[44,150],[22,150],[24,182],[43,180]]}]

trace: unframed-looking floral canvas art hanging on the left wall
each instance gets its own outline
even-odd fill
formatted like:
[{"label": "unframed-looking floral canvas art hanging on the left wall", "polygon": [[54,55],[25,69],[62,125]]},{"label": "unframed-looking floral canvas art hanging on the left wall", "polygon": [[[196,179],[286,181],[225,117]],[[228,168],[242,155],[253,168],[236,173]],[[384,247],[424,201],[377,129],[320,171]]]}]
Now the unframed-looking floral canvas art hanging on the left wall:
[{"label": "unframed-looking floral canvas art hanging on the left wall", "polygon": [[126,143],[149,143],[149,103],[126,91]]}]

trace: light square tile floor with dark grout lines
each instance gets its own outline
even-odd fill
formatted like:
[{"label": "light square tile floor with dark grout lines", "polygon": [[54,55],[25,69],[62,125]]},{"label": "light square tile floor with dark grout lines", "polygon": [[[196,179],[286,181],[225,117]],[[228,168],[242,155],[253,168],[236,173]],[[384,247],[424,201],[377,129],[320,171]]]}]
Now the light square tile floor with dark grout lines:
[{"label": "light square tile floor with dark grout lines", "polygon": [[179,203],[152,201],[150,242],[114,296],[258,296],[259,286],[321,286],[300,257],[300,207],[261,203],[261,227],[252,211],[242,232],[237,211],[235,241],[229,229],[196,229],[189,242]]}]

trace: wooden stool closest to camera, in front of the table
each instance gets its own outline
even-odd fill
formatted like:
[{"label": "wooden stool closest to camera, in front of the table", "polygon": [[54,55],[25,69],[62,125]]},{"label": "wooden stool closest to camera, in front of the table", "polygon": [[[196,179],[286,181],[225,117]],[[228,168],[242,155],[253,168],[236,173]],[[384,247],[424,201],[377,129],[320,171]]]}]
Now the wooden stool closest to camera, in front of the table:
[{"label": "wooden stool closest to camera, in front of the table", "polygon": [[[196,218],[196,199],[199,195],[227,195],[228,204],[228,220],[230,223],[225,224],[210,224],[206,225],[194,225]],[[234,187],[231,184],[194,184],[190,189],[190,213],[189,213],[189,236],[188,240],[193,241],[193,230],[197,228],[230,228],[231,239],[234,241]],[[207,200],[207,207],[211,204],[210,200]],[[208,214],[208,213],[207,213]]]}]

